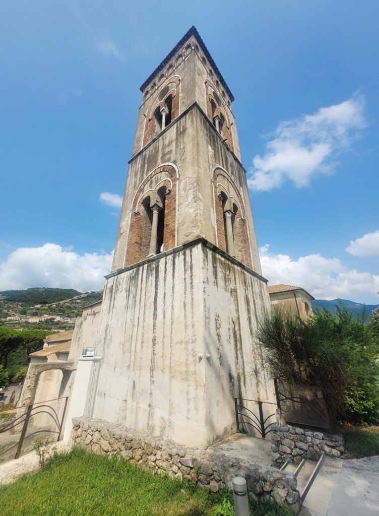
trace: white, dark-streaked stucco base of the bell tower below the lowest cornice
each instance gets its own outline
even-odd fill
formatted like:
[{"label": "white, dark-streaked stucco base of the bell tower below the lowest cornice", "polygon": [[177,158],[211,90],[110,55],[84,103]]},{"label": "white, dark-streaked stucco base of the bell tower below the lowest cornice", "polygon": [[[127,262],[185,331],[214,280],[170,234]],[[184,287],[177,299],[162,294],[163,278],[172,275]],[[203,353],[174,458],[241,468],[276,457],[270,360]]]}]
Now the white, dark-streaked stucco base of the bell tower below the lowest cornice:
[{"label": "white, dark-streaked stucco base of the bell tower below the lowest cornice", "polygon": [[106,282],[93,416],[211,444],[235,431],[234,396],[267,398],[252,336],[266,284],[204,241],[163,254]]}]

